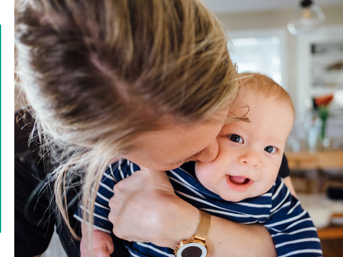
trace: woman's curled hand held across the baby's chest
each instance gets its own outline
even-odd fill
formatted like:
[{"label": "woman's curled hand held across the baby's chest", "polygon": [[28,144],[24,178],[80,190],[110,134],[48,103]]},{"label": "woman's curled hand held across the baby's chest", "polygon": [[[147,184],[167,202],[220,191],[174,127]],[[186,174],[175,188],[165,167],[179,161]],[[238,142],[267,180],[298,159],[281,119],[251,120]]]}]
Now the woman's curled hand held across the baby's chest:
[{"label": "woman's curled hand held across the baby's chest", "polygon": [[166,172],[142,168],[114,186],[109,220],[116,236],[174,248],[197,230],[199,210],[175,193]]}]

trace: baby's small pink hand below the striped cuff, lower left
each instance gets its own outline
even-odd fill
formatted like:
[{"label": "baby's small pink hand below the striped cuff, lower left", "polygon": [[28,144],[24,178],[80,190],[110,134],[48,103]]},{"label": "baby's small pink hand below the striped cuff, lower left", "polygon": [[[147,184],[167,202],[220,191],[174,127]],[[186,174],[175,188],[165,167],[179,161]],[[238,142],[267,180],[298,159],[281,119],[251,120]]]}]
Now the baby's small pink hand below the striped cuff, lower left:
[{"label": "baby's small pink hand below the striped cuff, lower left", "polygon": [[[110,257],[114,250],[111,235],[100,230],[93,230],[93,250],[96,257]],[[81,237],[80,251],[81,257],[88,256],[84,237]]]}]

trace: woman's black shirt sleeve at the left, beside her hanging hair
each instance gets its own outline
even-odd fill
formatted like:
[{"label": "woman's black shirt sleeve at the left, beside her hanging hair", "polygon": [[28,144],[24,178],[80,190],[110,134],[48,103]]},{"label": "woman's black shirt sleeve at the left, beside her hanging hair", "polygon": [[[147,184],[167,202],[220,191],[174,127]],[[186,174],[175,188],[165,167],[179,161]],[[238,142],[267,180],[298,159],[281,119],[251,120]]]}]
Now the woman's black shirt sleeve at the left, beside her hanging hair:
[{"label": "woman's black shirt sleeve at the left, beside her hanging hair", "polygon": [[51,192],[44,188],[45,167],[40,161],[39,144],[28,145],[33,124],[34,120],[24,111],[14,113],[14,257],[42,254],[56,221],[54,214],[50,215]]}]

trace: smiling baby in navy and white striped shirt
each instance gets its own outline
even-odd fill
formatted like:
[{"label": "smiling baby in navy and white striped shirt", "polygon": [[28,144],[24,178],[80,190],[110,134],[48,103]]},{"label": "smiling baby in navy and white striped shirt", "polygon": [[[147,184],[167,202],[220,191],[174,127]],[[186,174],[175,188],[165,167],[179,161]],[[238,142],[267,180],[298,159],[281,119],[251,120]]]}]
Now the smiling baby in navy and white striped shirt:
[{"label": "smiling baby in navy and white striped shirt", "polygon": [[[211,215],[263,224],[278,256],[322,256],[311,218],[277,176],[294,121],[291,98],[269,77],[245,73],[240,74],[239,94],[229,109],[232,119],[217,136],[214,161],[197,161],[196,178],[180,168],[166,171],[176,194]],[[121,160],[104,173],[94,211],[97,257],[108,257],[113,251],[113,225],[107,219],[111,188],[139,169]],[[74,215],[79,220],[81,208]],[[151,243],[130,242],[127,248],[131,256],[174,256],[174,249]]]}]

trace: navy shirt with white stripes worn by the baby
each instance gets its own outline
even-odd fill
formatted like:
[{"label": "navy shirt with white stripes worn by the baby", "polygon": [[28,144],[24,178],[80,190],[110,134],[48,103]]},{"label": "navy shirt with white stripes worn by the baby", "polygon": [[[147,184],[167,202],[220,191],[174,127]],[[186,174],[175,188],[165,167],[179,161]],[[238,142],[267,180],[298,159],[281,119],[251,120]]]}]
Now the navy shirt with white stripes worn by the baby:
[{"label": "navy shirt with white stripes worn by the baby", "polygon": [[[123,159],[111,164],[104,172],[95,203],[95,229],[111,233],[113,224],[107,217],[110,211],[108,201],[114,194],[113,187],[139,169],[136,164]],[[300,202],[291,195],[281,177],[277,177],[272,188],[265,194],[231,202],[209,191],[196,178],[180,168],[166,172],[175,193],[191,205],[234,222],[263,224],[273,238],[277,256],[322,256],[317,229],[312,219]],[[82,210],[81,206],[74,215],[81,221]],[[151,243],[131,242],[126,247],[134,257],[175,257],[174,249]]]}]

